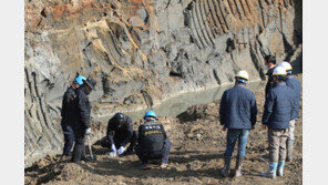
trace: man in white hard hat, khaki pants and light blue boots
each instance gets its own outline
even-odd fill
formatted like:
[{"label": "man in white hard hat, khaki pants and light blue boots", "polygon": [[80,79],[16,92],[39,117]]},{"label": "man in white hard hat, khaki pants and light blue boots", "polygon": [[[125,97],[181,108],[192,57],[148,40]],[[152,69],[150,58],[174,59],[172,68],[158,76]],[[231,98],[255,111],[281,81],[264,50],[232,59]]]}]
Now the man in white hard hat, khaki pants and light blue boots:
[{"label": "man in white hard hat, khaki pants and light blue boots", "polygon": [[268,91],[262,119],[263,129],[268,127],[269,169],[262,176],[275,178],[283,176],[286,160],[286,141],[291,117],[295,114],[295,94],[286,85],[287,73],[281,66],[273,71],[274,86]]}]

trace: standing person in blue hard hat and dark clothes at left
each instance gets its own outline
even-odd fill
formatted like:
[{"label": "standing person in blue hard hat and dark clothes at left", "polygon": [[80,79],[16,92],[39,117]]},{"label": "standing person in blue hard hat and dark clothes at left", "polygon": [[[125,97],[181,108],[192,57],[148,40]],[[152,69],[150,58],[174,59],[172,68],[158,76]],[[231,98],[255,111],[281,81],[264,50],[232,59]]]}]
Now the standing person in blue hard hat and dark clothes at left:
[{"label": "standing person in blue hard hat and dark clothes at left", "polygon": [[74,79],[71,86],[68,88],[63,95],[62,100],[62,110],[61,110],[61,127],[64,134],[64,147],[63,156],[71,156],[71,150],[74,143],[74,133],[72,129],[71,113],[74,112],[74,100],[76,97],[75,90],[83,84],[82,80],[86,80],[83,75],[79,75]]}]

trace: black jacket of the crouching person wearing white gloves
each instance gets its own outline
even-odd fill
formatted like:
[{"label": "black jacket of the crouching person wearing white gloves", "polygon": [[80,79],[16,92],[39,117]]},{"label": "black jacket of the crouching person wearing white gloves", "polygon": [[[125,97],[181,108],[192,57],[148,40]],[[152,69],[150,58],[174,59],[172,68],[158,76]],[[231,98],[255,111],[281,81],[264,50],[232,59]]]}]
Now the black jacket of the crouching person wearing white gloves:
[{"label": "black jacket of the crouching person wearing white gloves", "polygon": [[116,122],[114,117],[109,121],[106,136],[110,141],[110,146],[114,144],[114,137],[116,137],[119,141],[122,141],[121,144],[123,144],[123,146],[126,146],[133,136],[133,126],[131,124],[132,121],[127,115],[124,116],[125,122],[122,124]]}]

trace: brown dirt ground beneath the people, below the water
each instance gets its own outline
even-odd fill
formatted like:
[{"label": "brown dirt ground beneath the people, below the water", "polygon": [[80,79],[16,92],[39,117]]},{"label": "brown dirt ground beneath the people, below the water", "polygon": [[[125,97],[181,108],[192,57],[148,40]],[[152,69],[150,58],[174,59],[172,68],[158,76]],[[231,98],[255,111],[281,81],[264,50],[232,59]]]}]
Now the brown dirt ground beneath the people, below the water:
[{"label": "brown dirt ground beneath the people, below the water", "polygon": [[[301,81],[301,74],[297,75]],[[177,117],[160,117],[172,141],[168,168],[162,169],[153,164],[148,171],[141,171],[136,155],[111,158],[106,148],[95,143],[94,163],[73,164],[57,156],[47,156],[32,167],[25,168],[25,184],[303,184],[303,101],[300,117],[296,121],[294,162],[286,163],[284,177],[276,179],[259,176],[268,169],[266,156],[267,130],[262,130],[260,119],[264,106],[264,89],[254,91],[258,116],[255,130],[249,134],[244,176],[223,177],[226,132],[218,121],[219,102],[189,107]],[[301,99],[303,100],[303,99]],[[137,129],[137,124],[134,129]],[[86,148],[86,153],[88,153]],[[88,153],[89,155],[89,153]],[[235,166],[236,147],[232,168]]]}]

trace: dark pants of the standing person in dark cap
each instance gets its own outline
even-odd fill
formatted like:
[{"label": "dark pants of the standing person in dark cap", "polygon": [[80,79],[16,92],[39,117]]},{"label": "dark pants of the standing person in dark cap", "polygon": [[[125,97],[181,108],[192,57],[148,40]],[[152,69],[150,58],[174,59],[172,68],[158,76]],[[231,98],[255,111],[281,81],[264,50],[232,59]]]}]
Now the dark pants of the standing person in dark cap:
[{"label": "dark pants of the standing person in dark cap", "polygon": [[85,160],[85,133],[81,131],[74,132],[74,150],[72,154],[72,161],[79,163],[81,160]]}]

